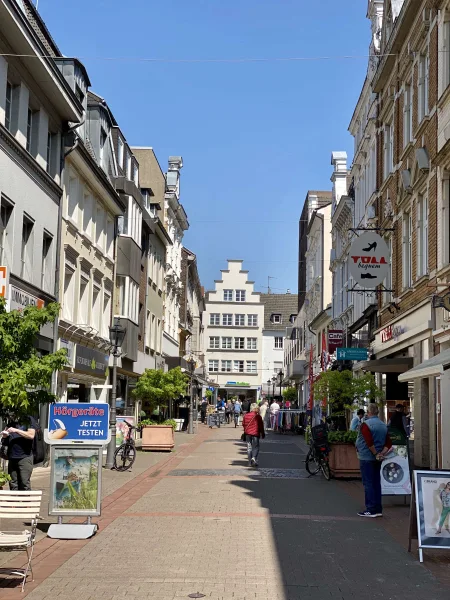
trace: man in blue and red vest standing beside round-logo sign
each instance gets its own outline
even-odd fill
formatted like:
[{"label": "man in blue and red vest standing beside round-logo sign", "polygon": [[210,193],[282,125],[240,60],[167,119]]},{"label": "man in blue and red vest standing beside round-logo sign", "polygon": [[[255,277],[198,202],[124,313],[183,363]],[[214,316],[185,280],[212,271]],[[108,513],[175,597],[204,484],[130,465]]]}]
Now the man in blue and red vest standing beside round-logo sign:
[{"label": "man in blue and red vest standing beside round-logo sign", "polygon": [[360,517],[382,517],[381,505],[381,462],[392,448],[387,425],[378,417],[378,406],[369,404],[366,420],[359,428],[356,440],[361,477],[364,486],[366,510]]}]

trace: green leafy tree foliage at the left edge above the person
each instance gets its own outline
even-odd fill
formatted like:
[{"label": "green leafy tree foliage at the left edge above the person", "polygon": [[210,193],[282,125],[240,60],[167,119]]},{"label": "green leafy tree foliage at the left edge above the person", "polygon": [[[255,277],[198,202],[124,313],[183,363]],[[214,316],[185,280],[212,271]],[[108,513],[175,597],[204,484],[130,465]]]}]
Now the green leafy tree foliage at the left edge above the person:
[{"label": "green leafy tree foliage at the left edge above the person", "polygon": [[40,355],[36,337],[47,323],[53,323],[59,304],[43,308],[28,306],[7,312],[0,298],[0,415],[23,418],[37,414],[39,404],[55,400],[50,391],[52,374],[67,362],[64,349]]}]

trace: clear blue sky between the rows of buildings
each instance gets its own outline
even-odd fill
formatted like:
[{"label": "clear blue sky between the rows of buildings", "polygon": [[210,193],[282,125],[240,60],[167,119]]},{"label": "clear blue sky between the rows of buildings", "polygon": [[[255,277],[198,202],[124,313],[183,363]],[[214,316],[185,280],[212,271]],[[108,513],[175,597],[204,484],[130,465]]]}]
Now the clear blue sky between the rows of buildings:
[{"label": "clear blue sky between the rows of buildings", "polygon": [[[185,245],[209,289],[227,258],[264,291],[297,290],[298,219],[308,189],[331,189],[332,150],[367,59],[178,63],[103,58],[364,56],[366,2],[335,0],[39,0],[61,51],[85,64],[132,145],[163,168],[184,161]],[[267,291],[267,287],[266,290]]]}]

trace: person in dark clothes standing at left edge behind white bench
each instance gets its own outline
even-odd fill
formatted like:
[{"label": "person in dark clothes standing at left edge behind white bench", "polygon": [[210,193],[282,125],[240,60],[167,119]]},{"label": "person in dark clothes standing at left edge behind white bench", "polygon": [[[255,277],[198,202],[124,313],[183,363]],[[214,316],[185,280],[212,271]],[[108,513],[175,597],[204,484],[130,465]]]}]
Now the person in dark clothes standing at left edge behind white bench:
[{"label": "person in dark clothes standing at left edge behind white bench", "polygon": [[8,450],[8,474],[11,491],[31,490],[31,474],[34,466],[34,439],[40,430],[34,417],[12,422],[2,431],[2,444]]}]

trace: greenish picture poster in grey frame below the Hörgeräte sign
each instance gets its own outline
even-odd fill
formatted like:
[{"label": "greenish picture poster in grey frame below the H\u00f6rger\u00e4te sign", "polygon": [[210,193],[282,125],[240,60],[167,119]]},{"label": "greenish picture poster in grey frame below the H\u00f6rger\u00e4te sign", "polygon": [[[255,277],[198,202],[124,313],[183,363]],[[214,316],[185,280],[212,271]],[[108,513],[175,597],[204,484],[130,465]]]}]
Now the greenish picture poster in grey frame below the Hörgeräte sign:
[{"label": "greenish picture poster in grey frame below the H\u00f6rger\u00e4te sign", "polygon": [[49,514],[100,514],[100,452],[99,446],[52,446]]}]

